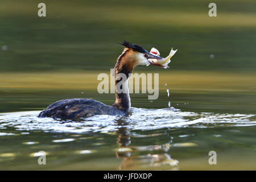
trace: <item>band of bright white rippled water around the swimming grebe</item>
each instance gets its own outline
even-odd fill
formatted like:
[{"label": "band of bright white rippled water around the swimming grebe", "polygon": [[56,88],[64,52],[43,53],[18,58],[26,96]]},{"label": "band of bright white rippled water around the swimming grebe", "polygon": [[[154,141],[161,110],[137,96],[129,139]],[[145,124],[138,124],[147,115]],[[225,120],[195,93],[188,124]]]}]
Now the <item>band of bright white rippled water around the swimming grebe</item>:
[{"label": "band of bright white rippled water around the swimming grebe", "polygon": [[256,126],[254,114],[194,113],[180,111],[174,107],[165,109],[132,107],[131,114],[126,117],[95,115],[94,117],[80,119],[80,121],[38,118],[39,112],[1,113],[0,128],[2,133],[7,127],[9,129],[13,127],[19,134],[33,130],[61,133],[108,133],[123,127],[118,125],[118,122],[126,123],[125,127],[131,130],[155,130],[170,127]]}]

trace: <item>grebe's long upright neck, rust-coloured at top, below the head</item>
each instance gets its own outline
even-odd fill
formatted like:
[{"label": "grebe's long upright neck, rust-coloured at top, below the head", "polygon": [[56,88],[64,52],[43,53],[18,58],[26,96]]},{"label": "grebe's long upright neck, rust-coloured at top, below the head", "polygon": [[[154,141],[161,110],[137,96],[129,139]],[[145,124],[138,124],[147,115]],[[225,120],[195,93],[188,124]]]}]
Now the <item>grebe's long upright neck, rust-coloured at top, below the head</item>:
[{"label": "grebe's long upright neck, rust-coloured at top, below the head", "polygon": [[[129,113],[131,109],[131,101],[129,96],[128,88],[128,78],[129,74],[133,72],[134,67],[136,66],[136,60],[134,59],[134,51],[129,48],[125,48],[122,54],[118,57],[117,63],[115,64],[115,102],[114,107],[122,109],[123,111]],[[119,74],[121,73],[121,74]],[[127,80],[122,82],[122,85],[118,85],[122,81],[122,77],[119,75],[126,76]],[[124,92],[118,93],[118,89],[122,89]]]}]

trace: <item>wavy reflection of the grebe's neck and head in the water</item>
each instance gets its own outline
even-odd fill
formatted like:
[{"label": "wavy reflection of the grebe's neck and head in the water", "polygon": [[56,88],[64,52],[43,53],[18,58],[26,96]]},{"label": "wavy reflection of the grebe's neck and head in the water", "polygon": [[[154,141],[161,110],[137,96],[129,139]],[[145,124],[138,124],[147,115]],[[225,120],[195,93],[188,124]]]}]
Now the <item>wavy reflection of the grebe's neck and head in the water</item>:
[{"label": "wavy reflection of the grebe's neck and head in the water", "polygon": [[[117,121],[118,134],[117,143],[119,147],[115,152],[117,158],[122,159],[119,166],[120,170],[133,169],[166,169],[177,170],[179,163],[172,159],[167,151],[170,149],[170,143],[150,146],[133,146],[131,144],[131,130],[127,128],[126,121]],[[143,137],[143,136],[142,136]],[[143,139],[143,138],[141,138]],[[155,154],[159,153],[159,154]]]}]

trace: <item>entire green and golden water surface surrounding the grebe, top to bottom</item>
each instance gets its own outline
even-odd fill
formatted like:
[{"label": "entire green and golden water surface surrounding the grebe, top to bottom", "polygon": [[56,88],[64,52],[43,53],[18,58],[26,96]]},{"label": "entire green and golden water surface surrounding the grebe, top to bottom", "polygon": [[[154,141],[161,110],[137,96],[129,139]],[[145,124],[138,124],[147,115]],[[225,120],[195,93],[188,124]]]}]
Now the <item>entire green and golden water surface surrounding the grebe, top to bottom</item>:
[{"label": "entire green and golden water surface surrounding the grebe, top to bottom", "polygon": [[[47,1],[47,18],[36,1],[0,4],[0,169],[256,169],[254,1],[218,2],[217,19],[204,1]],[[159,73],[158,100],[131,94],[124,118],[36,117],[64,98],[113,104],[97,76],[123,39],[163,55],[179,48],[168,69],[135,68]]]}]

